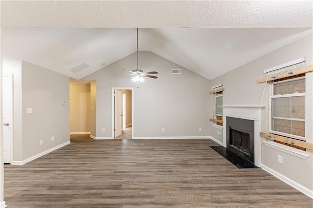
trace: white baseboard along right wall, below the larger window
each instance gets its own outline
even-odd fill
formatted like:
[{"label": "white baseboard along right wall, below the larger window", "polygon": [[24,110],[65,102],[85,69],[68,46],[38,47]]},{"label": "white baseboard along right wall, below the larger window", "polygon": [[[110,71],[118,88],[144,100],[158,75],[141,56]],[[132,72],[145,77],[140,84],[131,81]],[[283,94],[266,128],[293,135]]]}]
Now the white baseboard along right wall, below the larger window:
[{"label": "white baseboard along right wall, below the larger window", "polygon": [[261,164],[261,168],[264,169],[265,171],[267,171],[268,173],[272,174],[276,178],[280,179],[281,181],[285,182],[289,186],[294,187],[298,191],[304,193],[305,195],[307,195],[313,199],[313,190],[310,190],[309,188],[306,188],[306,187],[302,186],[301,184],[298,184],[297,182],[291,180],[290,178],[287,178],[286,176],[284,176],[281,173],[269,168],[268,166]]}]

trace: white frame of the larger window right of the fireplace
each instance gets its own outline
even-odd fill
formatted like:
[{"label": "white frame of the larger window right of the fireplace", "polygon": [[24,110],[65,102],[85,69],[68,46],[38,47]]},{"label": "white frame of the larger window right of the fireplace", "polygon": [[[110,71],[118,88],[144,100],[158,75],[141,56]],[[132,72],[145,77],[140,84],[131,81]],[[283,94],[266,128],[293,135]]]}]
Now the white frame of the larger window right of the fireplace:
[{"label": "white frame of the larger window right of the fireplace", "polygon": [[[298,135],[294,135],[294,134],[289,134],[289,133],[284,133],[284,132],[280,132],[280,131],[275,131],[272,130],[272,109],[271,109],[271,102],[272,102],[272,98],[290,98],[290,97],[300,97],[303,96],[304,97],[304,101],[306,99],[305,96],[305,92],[301,92],[301,93],[292,93],[292,94],[278,94],[278,95],[274,95],[274,89],[275,89],[275,84],[278,83],[287,83],[287,82],[291,82],[291,81],[296,81],[296,80],[301,80],[304,79],[305,80],[305,76],[303,77],[297,77],[297,78],[292,78],[292,79],[288,79],[288,80],[283,80],[283,81],[278,81],[278,82],[272,82],[270,84],[270,93],[269,93],[269,99],[268,99],[268,129],[269,129],[269,133],[273,133],[273,134],[277,134],[277,135],[281,135],[281,136],[286,136],[286,137],[290,137],[293,139],[297,139],[297,140],[301,140],[301,141],[306,141],[306,135],[304,137],[302,136],[298,136]],[[306,102],[304,102],[304,110],[306,106]],[[307,122],[307,117],[304,116],[304,126],[306,127],[306,122]]]}]

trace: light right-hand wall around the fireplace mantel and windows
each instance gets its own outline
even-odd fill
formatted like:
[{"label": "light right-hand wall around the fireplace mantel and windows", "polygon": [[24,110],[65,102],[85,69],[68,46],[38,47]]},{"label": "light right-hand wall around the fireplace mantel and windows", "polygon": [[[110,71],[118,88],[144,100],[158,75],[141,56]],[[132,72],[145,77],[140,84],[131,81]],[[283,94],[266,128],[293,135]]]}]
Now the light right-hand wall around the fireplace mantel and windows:
[{"label": "light right-hand wall around the fireplace mantel and windows", "polygon": [[[276,66],[282,63],[286,63],[298,58],[305,57],[306,65],[313,63],[313,36],[307,36],[296,42],[284,46],[276,51],[269,53],[253,62],[239,67],[233,71],[230,71],[211,81],[210,86],[214,86],[219,83],[224,85],[223,105],[266,105],[266,108],[262,112],[262,131],[268,132],[268,89],[266,90],[265,99],[261,103],[262,92],[264,83],[257,83],[257,79],[264,77],[263,70]],[[312,76],[312,75],[311,75]],[[312,82],[313,79],[307,79],[307,82]],[[313,88],[307,89],[307,95],[313,94]],[[311,101],[311,103],[313,103]],[[312,108],[312,105],[311,105]],[[210,116],[213,116],[213,105],[210,107]],[[312,122],[312,111],[306,112],[306,123],[310,124],[308,119]],[[211,123],[212,124],[212,123]],[[311,123],[312,124],[312,123]],[[211,132],[216,131],[214,127],[210,125]],[[306,126],[307,141],[313,143],[313,128],[312,126]],[[265,139],[263,139],[265,140]],[[291,179],[299,187],[303,186],[309,190],[313,190],[313,151],[307,150],[309,155],[307,160],[300,159],[292,156],[281,150],[273,149],[271,147],[262,145],[262,165],[269,167],[270,170],[274,170],[288,179]],[[283,164],[279,164],[277,161],[278,155],[283,156]],[[304,188],[304,189],[305,189]]]}]

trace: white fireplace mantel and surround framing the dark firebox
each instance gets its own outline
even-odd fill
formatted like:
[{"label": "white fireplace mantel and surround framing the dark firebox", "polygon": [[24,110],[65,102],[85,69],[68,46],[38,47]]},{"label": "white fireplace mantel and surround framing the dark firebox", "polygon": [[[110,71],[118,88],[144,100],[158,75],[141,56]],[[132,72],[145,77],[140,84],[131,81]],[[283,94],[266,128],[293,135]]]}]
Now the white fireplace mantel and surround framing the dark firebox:
[{"label": "white fireplace mantel and surround framing the dark firebox", "polygon": [[[223,146],[227,148],[227,117],[251,120],[254,128],[254,165],[261,166],[261,120],[264,105],[223,105]],[[236,128],[236,127],[235,127]],[[237,127],[238,128],[238,127]],[[242,129],[239,127],[239,129]]]}]

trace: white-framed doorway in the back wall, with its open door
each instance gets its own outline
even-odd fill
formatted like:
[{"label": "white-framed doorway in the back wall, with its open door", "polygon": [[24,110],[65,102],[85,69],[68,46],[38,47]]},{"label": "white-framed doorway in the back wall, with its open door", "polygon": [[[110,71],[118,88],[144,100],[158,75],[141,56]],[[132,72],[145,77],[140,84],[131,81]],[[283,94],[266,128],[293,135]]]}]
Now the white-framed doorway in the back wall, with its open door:
[{"label": "white-framed doorway in the back wall, with its open door", "polygon": [[132,87],[112,88],[112,137],[132,139],[134,93]]}]

